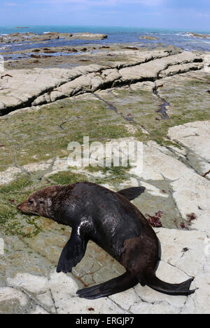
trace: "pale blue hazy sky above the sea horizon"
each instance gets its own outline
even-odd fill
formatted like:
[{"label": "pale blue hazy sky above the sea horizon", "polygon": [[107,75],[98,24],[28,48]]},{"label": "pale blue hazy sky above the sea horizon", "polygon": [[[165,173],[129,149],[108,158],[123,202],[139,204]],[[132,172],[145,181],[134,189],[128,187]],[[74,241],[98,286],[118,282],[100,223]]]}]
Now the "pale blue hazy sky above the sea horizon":
[{"label": "pale blue hazy sky above the sea horizon", "polygon": [[1,0],[0,25],[92,25],[210,31],[210,0]]}]

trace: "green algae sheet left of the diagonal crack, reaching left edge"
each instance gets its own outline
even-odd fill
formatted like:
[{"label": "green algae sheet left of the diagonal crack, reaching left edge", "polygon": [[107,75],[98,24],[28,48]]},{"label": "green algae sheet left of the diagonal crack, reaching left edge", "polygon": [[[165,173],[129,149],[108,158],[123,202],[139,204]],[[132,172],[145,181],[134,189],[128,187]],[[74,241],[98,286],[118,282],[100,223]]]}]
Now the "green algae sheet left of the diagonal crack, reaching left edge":
[{"label": "green algae sheet left of the diagonal crack, reaching left edge", "polygon": [[[6,165],[38,163],[56,155],[63,155],[71,141],[120,138],[128,136],[123,119],[114,117],[97,99],[69,98],[40,110],[17,112],[0,119],[0,170]],[[2,166],[2,167],[1,167]]]}]

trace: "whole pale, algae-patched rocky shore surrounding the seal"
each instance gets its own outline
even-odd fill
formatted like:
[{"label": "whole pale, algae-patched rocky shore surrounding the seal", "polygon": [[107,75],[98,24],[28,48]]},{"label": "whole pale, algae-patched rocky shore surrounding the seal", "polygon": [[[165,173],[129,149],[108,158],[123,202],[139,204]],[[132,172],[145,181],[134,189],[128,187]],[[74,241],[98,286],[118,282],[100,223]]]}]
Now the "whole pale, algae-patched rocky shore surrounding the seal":
[{"label": "whole pale, algae-patched rocky shore surrounding the seal", "polygon": [[[34,48],[40,58],[8,60],[0,74],[0,313],[210,313],[210,53],[85,48],[71,56],[56,48],[53,58]],[[143,171],[69,167],[67,146],[83,136],[141,141]],[[195,294],[137,284],[94,301],[76,296],[124,268],[89,242],[71,274],[55,273],[71,229],[24,216],[16,204],[43,186],[84,180],[146,187],[134,204],[147,218],[160,214],[157,275],[172,283],[195,277]]]}]

